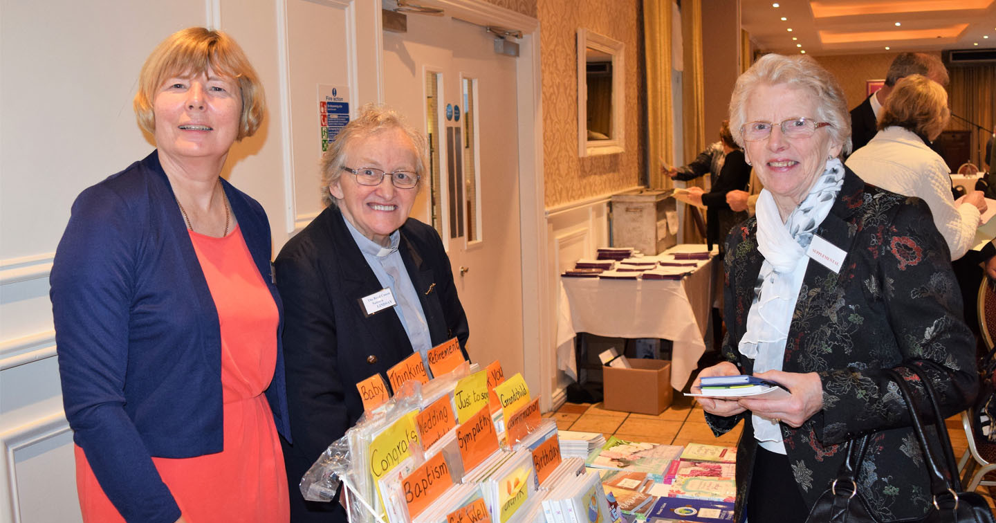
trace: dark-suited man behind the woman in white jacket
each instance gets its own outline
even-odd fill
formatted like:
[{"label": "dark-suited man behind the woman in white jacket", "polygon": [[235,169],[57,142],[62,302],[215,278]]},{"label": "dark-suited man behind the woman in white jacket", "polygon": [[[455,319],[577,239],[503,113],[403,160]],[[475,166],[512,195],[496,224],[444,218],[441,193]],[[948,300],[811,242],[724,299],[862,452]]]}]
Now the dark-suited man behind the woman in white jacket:
[{"label": "dark-suited man behind the woman in white jacket", "polygon": [[[885,85],[865,99],[860,106],[851,110],[851,150],[865,146],[878,130],[875,124],[881,112],[885,99],[892,92],[892,87],[900,79],[909,75],[923,75],[934,82],[947,87],[948,76],[944,64],[934,55],[925,53],[899,53],[888,66]],[[937,149],[931,145],[935,151]],[[937,151],[940,154],[940,151]]]}]

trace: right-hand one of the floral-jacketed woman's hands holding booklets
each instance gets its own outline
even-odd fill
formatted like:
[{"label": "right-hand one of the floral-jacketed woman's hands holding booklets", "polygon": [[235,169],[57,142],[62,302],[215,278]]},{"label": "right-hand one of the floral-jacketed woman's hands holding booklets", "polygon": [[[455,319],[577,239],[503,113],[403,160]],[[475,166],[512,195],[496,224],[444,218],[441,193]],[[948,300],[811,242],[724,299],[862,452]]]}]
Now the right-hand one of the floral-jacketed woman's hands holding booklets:
[{"label": "right-hand one of the floral-jacketed woman's hands holding booklets", "polygon": [[813,414],[823,409],[823,382],[816,373],[768,371],[754,376],[781,384],[792,392],[792,396],[784,399],[744,397],[739,400],[742,407],[761,417],[784,421],[791,426],[799,427]]}]

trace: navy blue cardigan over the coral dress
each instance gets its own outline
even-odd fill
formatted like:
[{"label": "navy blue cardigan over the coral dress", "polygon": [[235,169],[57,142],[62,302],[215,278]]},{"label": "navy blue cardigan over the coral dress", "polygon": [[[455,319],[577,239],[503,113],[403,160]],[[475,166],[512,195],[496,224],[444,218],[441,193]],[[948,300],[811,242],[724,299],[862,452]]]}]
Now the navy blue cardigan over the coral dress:
[{"label": "navy blue cardigan over the coral dress", "polygon": [[[277,430],[290,437],[269,222],[259,202],[222,186],[280,313],[266,397]],[[175,521],[179,507],[150,457],[222,450],[221,334],[156,151],[80,194],[51,284],[74,440],[126,521]]]}]

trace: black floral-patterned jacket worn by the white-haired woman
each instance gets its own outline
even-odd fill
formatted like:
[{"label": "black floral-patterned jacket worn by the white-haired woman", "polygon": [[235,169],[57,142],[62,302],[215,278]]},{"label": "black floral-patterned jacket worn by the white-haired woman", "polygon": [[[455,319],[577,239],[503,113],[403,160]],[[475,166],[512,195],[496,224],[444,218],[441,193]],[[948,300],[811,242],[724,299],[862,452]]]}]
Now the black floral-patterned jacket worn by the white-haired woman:
[{"label": "black floral-patterned jacket worn by the white-haired woman", "polygon": [[[756,233],[752,217],[726,239],[723,357],[743,374],[753,373],[753,360],[740,355],[737,342],[764,261]],[[931,502],[928,478],[905,403],[881,370],[923,368],[945,417],[974,397],[975,343],[962,321],[947,244],[923,201],[868,185],[851,169],[817,234],[847,256],[839,273],[810,261],[792,318],[783,370],[818,373],[824,403],[801,427],[781,425],[793,474],[812,506],[837,475],[843,443],[875,432],[861,492],[883,521],[920,516]],[[926,408],[913,375],[900,374]],[[706,414],[717,435],[741,419],[746,423],[737,460],[737,521],[757,449],[749,414]]]}]

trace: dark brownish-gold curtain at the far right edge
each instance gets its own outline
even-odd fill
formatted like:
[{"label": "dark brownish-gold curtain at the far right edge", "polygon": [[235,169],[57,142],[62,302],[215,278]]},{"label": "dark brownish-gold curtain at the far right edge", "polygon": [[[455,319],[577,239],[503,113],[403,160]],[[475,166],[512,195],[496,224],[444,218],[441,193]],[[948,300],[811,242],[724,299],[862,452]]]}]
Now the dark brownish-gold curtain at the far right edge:
[{"label": "dark brownish-gold curtain at the far right edge", "polygon": [[986,140],[992,136],[993,126],[996,126],[996,66],[952,67],[947,71],[951,77],[948,88],[951,113],[982,126],[985,131],[979,131],[954,117],[951,117],[947,129],[972,131],[971,161],[981,168]]}]

